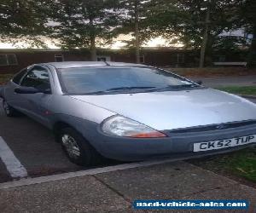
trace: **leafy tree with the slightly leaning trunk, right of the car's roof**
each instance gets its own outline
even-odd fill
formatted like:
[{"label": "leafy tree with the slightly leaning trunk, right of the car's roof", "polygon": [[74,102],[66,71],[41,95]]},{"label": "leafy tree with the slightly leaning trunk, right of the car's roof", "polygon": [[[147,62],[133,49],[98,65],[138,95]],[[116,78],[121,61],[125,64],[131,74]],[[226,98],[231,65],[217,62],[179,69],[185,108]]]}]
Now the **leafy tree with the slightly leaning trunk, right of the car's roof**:
[{"label": "leafy tree with the slightly leaning trunk, right of the car's roof", "polygon": [[172,43],[179,40],[185,48],[201,49],[200,66],[204,66],[205,55],[211,55],[218,35],[235,26],[239,1],[157,0],[154,30]]}]

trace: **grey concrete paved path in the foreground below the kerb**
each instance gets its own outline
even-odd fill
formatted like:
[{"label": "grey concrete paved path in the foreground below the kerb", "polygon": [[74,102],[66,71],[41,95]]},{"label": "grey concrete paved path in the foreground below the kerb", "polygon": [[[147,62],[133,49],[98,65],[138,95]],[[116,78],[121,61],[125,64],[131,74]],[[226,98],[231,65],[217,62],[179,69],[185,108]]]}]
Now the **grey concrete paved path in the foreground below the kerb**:
[{"label": "grey concrete paved path in the foreground below the kerb", "polygon": [[249,212],[256,212],[255,188],[184,162],[2,188],[0,210],[2,213],[133,212],[131,204],[135,199],[247,199],[251,203]]}]

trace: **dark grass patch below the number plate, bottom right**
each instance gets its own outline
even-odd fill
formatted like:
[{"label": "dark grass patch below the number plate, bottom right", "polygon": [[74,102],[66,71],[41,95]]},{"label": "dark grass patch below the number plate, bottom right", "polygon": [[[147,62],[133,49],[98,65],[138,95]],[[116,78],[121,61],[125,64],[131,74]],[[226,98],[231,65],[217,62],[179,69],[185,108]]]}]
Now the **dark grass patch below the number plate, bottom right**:
[{"label": "dark grass patch below the number plate, bottom right", "polygon": [[189,160],[189,163],[221,175],[243,177],[256,186],[256,147],[205,158],[204,160],[193,159]]}]

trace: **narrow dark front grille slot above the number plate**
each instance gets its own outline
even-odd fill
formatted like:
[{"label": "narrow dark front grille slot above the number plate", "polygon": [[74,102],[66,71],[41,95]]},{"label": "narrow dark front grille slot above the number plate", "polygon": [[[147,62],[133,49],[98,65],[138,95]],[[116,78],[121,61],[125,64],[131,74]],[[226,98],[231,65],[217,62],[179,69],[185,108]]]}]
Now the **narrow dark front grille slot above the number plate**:
[{"label": "narrow dark front grille slot above the number plate", "polygon": [[243,127],[247,125],[256,124],[256,120],[242,121],[242,122],[232,122],[225,124],[212,124],[207,126],[197,126],[191,128],[171,130],[170,133],[189,133],[189,132],[203,132],[203,131],[212,131],[212,130],[226,130],[230,128]]}]

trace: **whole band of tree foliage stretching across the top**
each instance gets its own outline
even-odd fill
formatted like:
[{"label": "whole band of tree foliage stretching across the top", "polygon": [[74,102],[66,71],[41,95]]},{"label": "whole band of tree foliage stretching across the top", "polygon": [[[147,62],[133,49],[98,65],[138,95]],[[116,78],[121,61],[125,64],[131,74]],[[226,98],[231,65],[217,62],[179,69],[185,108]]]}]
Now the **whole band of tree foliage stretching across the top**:
[{"label": "whole band of tree foliage stretching across the top", "polygon": [[[42,37],[51,37],[64,49],[90,48],[96,60],[96,47],[129,34],[127,47],[136,49],[137,61],[141,46],[154,37],[186,49],[205,46],[211,57],[216,49],[239,48],[221,32],[243,27],[256,35],[255,11],[255,0],[1,0],[0,40],[44,46]],[[254,36],[252,64],[255,49]]]}]

